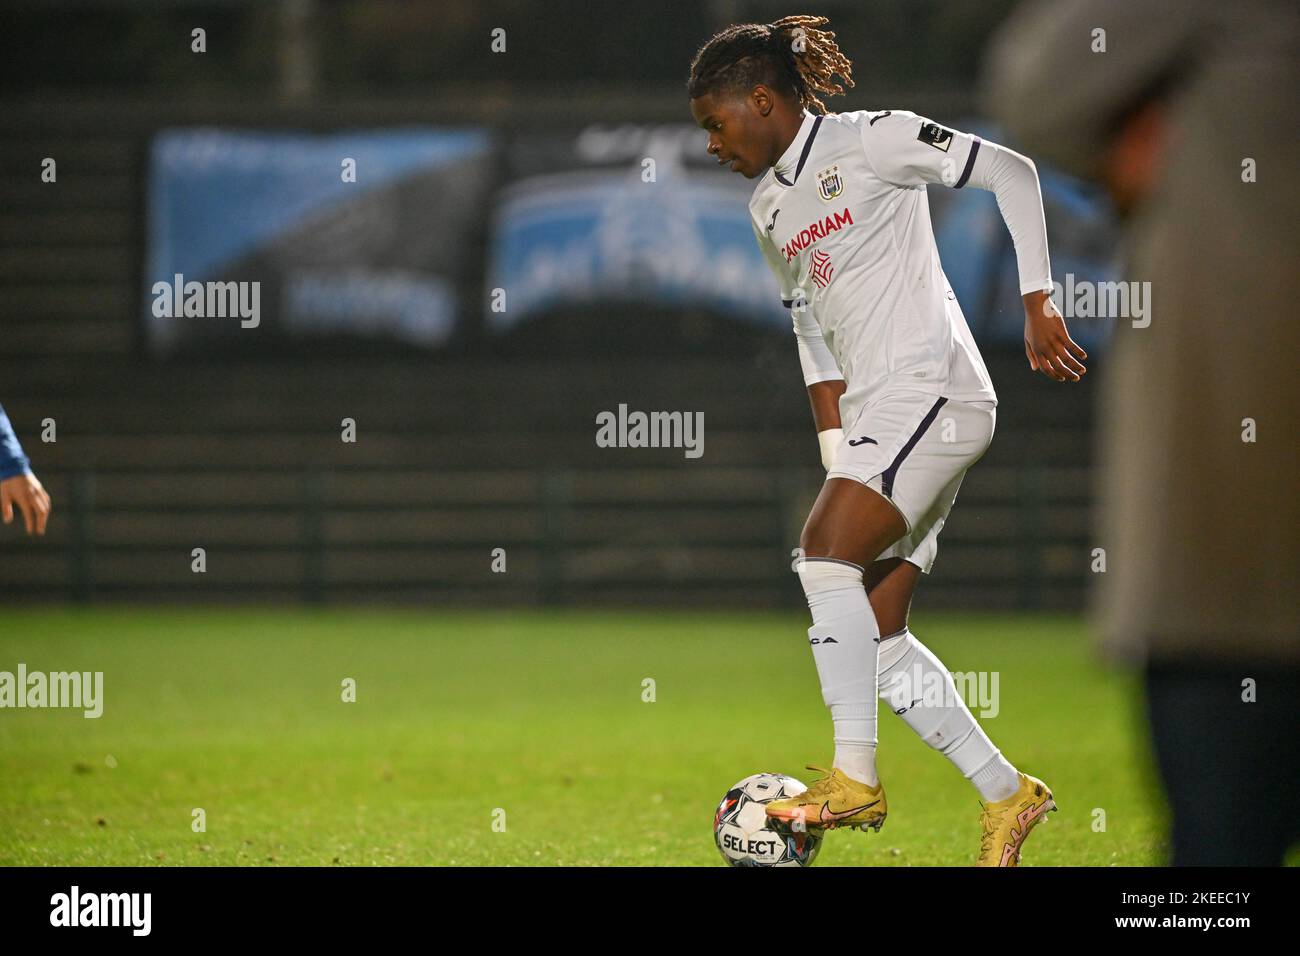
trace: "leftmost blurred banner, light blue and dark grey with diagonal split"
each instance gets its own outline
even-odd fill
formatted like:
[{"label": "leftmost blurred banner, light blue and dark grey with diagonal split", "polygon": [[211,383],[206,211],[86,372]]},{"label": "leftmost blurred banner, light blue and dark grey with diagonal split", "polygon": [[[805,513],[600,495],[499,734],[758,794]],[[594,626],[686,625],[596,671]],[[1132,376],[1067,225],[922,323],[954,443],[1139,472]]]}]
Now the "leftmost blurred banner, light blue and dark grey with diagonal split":
[{"label": "leftmost blurred banner, light blue and dark grey with diagonal split", "polygon": [[150,349],[438,347],[481,274],[484,130],[164,130],[148,183]]}]

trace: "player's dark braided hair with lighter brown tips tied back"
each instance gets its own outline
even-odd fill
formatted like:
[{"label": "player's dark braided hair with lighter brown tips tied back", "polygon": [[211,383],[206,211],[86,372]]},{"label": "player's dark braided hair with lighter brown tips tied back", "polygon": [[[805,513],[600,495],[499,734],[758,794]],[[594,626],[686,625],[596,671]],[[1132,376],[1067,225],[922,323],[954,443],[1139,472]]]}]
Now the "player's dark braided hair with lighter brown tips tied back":
[{"label": "player's dark braided hair with lighter brown tips tied back", "polygon": [[826,113],[818,94],[833,96],[853,86],[853,64],[818,27],[826,17],[785,17],[775,23],[738,23],[716,34],[690,61],[690,99],[712,92],[746,95],[757,85],[793,96],[810,113]]}]

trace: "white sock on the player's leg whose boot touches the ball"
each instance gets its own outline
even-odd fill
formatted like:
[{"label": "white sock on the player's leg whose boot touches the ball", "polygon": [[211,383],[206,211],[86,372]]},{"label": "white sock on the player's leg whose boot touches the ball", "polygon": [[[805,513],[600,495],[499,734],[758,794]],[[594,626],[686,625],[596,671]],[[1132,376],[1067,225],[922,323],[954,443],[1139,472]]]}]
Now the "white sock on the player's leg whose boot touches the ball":
[{"label": "white sock on the player's leg whose boot touches the ball", "polygon": [[822,680],[822,700],[835,721],[835,762],[853,779],[875,787],[876,657],[880,627],[867,600],[862,568],[835,558],[798,564],[812,611],[809,643]]}]

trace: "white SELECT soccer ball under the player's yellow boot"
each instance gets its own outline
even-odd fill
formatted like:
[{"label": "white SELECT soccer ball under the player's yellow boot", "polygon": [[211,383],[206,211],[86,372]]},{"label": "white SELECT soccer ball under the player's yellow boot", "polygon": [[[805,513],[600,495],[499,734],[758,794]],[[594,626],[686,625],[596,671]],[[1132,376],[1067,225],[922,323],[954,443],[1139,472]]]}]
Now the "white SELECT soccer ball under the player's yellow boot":
[{"label": "white SELECT soccer ball under the player's yellow boot", "polygon": [[727,791],[714,812],[714,843],[731,866],[807,866],[822,848],[816,830],[770,821],[763,806],[807,787],[785,774],[753,774]]}]

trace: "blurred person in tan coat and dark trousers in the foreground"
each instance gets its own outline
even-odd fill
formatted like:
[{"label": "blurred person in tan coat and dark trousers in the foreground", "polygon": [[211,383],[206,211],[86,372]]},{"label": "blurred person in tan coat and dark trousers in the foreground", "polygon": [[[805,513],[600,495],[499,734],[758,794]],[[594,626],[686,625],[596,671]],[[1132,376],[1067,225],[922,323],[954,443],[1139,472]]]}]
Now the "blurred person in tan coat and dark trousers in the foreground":
[{"label": "blurred person in tan coat and dark trousers in the foreground", "polygon": [[1040,1],[983,85],[1023,148],[1105,185],[1150,282],[1102,363],[1092,613],[1143,667],[1174,865],[1300,839],[1297,61],[1294,3]]}]

